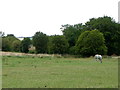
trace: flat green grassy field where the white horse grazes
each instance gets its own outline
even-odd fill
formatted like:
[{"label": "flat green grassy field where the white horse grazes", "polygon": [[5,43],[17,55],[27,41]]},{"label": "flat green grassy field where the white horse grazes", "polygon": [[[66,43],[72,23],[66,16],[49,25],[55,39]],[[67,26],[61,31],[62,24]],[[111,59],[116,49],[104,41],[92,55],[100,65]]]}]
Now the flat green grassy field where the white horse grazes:
[{"label": "flat green grassy field where the white horse grazes", "polygon": [[118,60],[3,56],[3,88],[118,88]]}]

